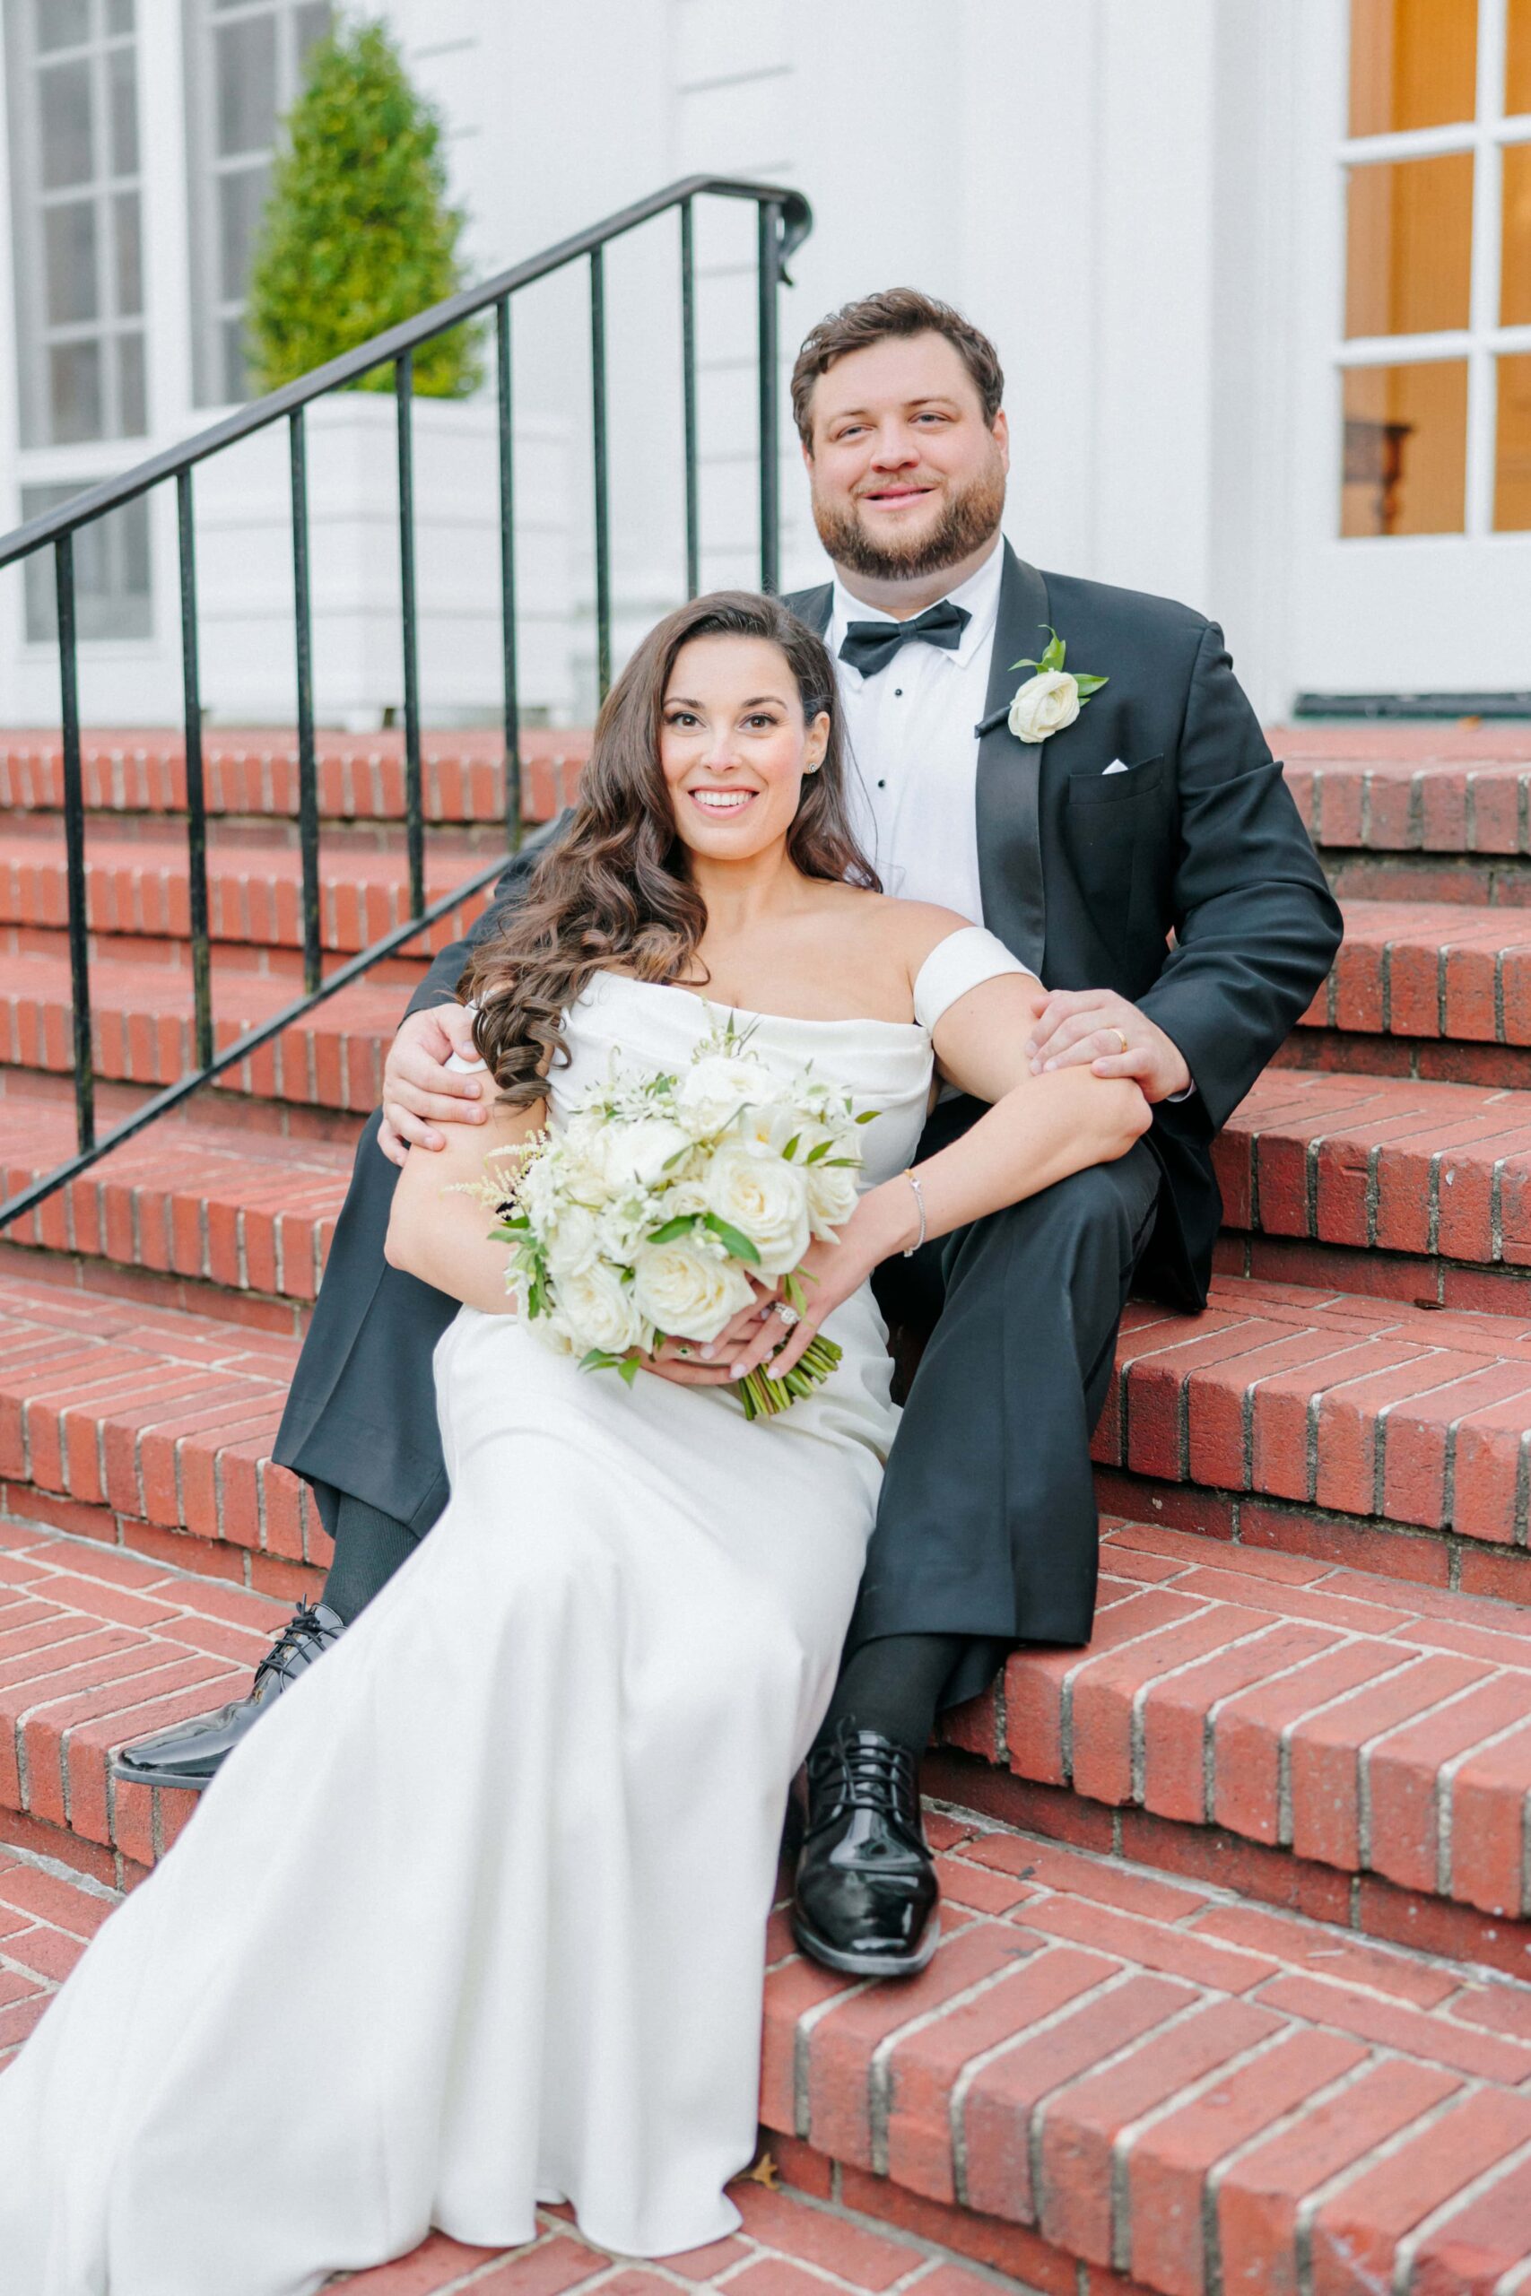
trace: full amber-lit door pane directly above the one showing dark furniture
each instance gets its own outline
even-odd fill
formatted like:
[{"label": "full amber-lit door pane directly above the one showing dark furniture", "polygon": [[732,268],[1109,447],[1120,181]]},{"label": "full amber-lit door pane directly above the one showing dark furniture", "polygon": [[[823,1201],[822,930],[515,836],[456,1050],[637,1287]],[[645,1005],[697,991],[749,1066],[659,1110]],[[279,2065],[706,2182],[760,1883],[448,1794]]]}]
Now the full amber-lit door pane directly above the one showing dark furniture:
[{"label": "full amber-lit door pane directly above the one showing dark furniture", "polygon": [[1467,326],[1471,152],[1352,168],[1345,204],[1345,333],[1430,335]]}]

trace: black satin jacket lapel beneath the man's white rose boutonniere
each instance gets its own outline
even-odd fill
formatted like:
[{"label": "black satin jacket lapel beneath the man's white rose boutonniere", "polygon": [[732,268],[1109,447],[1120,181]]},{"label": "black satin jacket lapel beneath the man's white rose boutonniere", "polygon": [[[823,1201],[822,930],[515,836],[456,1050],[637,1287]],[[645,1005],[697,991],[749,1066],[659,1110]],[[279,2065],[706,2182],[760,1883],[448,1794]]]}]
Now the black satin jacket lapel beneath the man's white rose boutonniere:
[{"label": "black satin jacket lapel beneath the man's white rose boutonniere", "polygon": [[[1028,670],[1012,661],[1040,657],[1047,645],[1047,583],[1035,567],[1017,558],[1005,542],[1005,572],[998,585],[998,620],[989,661],[985,723],[1005,709]],[[1042,893],[1042,838],[1037,794],[1042,785],[1042,744],[1017,742],[1003,716],[978,744],[978,884],[982,921],[1005,948],[1042,971],[1047,944],[1047,900]]]}]

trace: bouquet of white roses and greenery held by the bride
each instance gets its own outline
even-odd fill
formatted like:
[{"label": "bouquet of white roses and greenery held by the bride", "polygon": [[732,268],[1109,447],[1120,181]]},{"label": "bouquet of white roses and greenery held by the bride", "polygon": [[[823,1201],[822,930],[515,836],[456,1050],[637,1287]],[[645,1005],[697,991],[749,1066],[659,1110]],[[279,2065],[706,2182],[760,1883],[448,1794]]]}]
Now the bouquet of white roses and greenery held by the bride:
[{"label": "bouquet of white roses and greenery held by the bride", "polygon": [[[767,1068],[748,1035],[730,1017],[682,1075],[622,1075],[613,1056],[555,1130],[505,1150],[510,1178],[473,1187],[512,1247],[516,1311],[585,1371],[631,1384],[661,1339],[716,1339],[755,1297],[751,1277],[801,1313],[808,1242],[833,1242],[856,1205],[856,1127],[877,1111],[856,1116],[808,1068]],[[817,1334],[785,1380],[751,1371],[746,1417],[787,1410],[838,1362]]]}]

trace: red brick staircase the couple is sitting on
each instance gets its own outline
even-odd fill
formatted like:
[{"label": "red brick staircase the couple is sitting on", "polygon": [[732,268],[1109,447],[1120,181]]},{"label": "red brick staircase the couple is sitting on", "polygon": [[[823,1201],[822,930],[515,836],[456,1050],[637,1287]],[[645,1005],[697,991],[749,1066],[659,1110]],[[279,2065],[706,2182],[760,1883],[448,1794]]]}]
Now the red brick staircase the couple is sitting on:
[{"label": "red brick staircase the couple is sitting on", "polygon": [[[539,735],[546,817],[581,744]],[[927,1766],[943,1945],[833,1979],[774,1919],[790,2190],[643,2273],[551,2216],[383,2289],[1531,2289],[1531,728],[1297,728],[1350,939],[1219,1143],[1200,1318],[1134,1304],[1097,1435],[1088,1651]],[[432,889],[496,742],[427,744]],[[106,1114],[188,1058],[177,744],[96,735]],[[71,1137],[57,751],[0,737],[0,1166]],[[301,967],[296,769],[209,758],[220,1040]],[[328,739],[324,946],[404,900],[395,737]],[[438,939],[450,928],[441,928]],[[324,1531],[269,1446],[388,1035],[390,960],[0,1238],[0,2057],[188,1795],[108,1752],[239,1694]],[[1524,1075],[1522,1075],[1524,1068]]]}]

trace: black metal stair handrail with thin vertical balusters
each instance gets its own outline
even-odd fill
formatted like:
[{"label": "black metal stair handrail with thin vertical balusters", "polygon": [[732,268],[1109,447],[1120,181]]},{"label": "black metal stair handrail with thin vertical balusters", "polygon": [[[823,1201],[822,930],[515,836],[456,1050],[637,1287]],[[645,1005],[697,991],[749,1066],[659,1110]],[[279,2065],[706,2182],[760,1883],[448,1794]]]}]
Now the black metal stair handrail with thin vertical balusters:
[{"label": "black metal stair handrail with thin vertical balusters", "polygon": [[[780,496],[778,496],[778,429],[780,429],[780,374],[776,358],[776,289],[790,285],[787,259],[813,230],[813,209],[801,191],[783,184],[751,184],[737,177],[689,174],[663,191],[638,200],[634,207],[592,223],[572,239],[542,255],[528,255],[480,287],[434,303],[415,319],[374,335],[370,342],[331,358],[324,367],[301,374],[294,383],[271,390],[264,400],[236,409],[220,422],[186,439],[181,445],[151,455],[135,468],[117,478],[101,480],[57,510],[16,526],[0,535],[0,567],[32,558],[53,549],[55,595],[57,595],[57,652],[60,652],[60,728],[62,728],[62,813],[64,813],[64,879],[69,895],[69,985],[73,999],[73,1097],[78,1153],[44,1173],[30,1187],[18,1189],[0,1203],[0,1228],[30,1212],[55,1189],[67,1187],[78,1173],[103,1157],[119,1141],[142,1132],[168,1109],[179,1107],[213,1077],[234,1068],[271,1038],[280,1035],[296,1019],[303,1019],[317,1003],[360,978],[381,957],[404,948],[420,932],[448,916],[459,902],[480,893],[505,866],[500,859],[480,868],[452,893],[441,895],[429,907],[425,902],[425,792],[420,767],[420,659],[418,659],[418,611],[415,611],[415,503],[413,503],[413,354],[422,342],[443,335],[448,328],[494,310],[496,340],[496,413],[498,413],[498,478],[500,478],[500,657],[505,691],[505,836],[510,850],[521,847],[521,705],[516,670],[516,553],[514,553],[514,425],[512,425],[512,379],[510,379],[510,303],[512,296],[535,280],[581,257],[590,264],[590,427],[592,427],[592,507],[594,507],[594,636],[597,636],[597,687],[601,698],[611,684],[611,489],[606,452],[606,248],[638,225],[656,216],[679,211],[679,301],[682,301],[682,422],[684,422],[684,471],[686,471],[686,595],[695,597],[700,585],[700,487],[698,487],[698,425],[695,425],[695,200],[753,200],[757,216],[757,450],[760,450],[760,585],[780,585]],[[319,932],[319,771],[314,735],[314,680],[312,680],[312,597],[308,563],[308,436],[305,409],[312,400],[353,383],[374,367],[393,360],[395,406],[397,406],[397,468],[399,468],[399,622],[404,641],[404,845],[409,856],[409,918],[383,939],[372,941],[347,964],[324,976],[324,953]],[[296,696],[298,696],[298,859],[303,872],[303,996],[294,999],[273,1019],[246,1031],[220,1054],[213,1052],[213,983],[209,944],[207,900],[207,792],[202,774],[202,689],[197,668],[197,572],[195,572],[195,503],[193,471],[209,455],[223,452],[241,439],[287,418],[289,427],[289,480],[292,480],[292,585],[294,585],[294,647],[296,647]],[[186,859],[188,859],[188,912],[191,912],[191,978],[193,978],[193,1042],[197,1065],[165,1086],[124,1123],[96,1137],[94,1107],[94,1049],[90,1010],[90,930],[85,886],[85,788],[80,767],[80,698],[78,698],[78,629],[76,629],[76,569],[73,537],[80,526],[119,510],[151,487],[174,480],[177,489],[177,544],[181,579],[181,684],[186,728]]]}]

